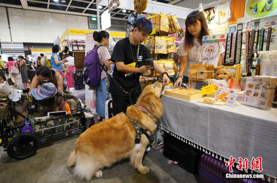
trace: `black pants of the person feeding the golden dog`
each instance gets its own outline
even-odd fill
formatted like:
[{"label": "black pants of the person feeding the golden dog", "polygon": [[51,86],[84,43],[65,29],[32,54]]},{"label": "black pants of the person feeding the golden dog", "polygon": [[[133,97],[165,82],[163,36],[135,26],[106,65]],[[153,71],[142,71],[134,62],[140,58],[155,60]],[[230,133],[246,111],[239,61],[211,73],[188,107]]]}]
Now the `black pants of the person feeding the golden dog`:
[{"label": "black pants of the person feeding the golden dog", "polygon": [[[133,94],[131,100],[133,104],[136,104],[141,92]],[[113,116],[120,112],[126,112],[127,107],[131,105],[129,96],[117,96],[112,95],[113,98]]]}]

